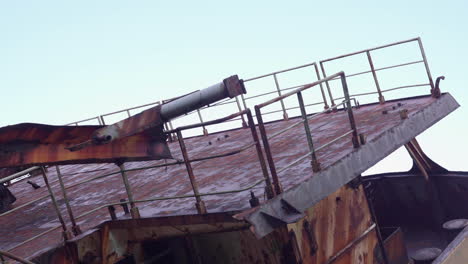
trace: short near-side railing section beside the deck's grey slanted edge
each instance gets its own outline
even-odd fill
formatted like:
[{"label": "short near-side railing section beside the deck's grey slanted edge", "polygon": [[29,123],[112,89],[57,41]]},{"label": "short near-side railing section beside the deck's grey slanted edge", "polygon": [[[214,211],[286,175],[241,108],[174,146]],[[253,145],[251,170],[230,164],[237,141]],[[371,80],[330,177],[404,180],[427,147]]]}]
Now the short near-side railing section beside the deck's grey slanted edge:
[{"label": "short near-side railing section beside the deck's grey slanted edge", "polygon": [[[343,108],[346,109],[347,113],[348,113],[348,119],[349,119],[349,124],[350,124],[350,131],[348,131],[347,133],[344,133],[343,135],[341,135],[340,137],[336,138],[336,139],[333,139],[331,140],[329,143],[323,145],[323,146],[320,146],[319,148],[314,148],[314,143],[313,143],[313,140],[312,140],[312,132],[310,130],[310,126],[309,126],[309,117],[307,115],[307,112],[306,112],[306,109],[305,109],[305,104],[304,104],[304,99],[302,97],[302,92],[309,89],[309,88],[312,88],[314,86],[317,86],[317,85],[320,85],[322,84],[323,82],[326,82],[326,81],[329,81],[329,80],[332,80],[334,78],[340,78],[341,79],[341,82],[342,82],[342,86],[343,86],[343,93],[344,93],[344,98],[345,100],[343,101]],[[300,121],[294,123],[293,125],[273,134],[273,135],[270,135],[268,136],[267,132],[266,132],[266,129],[265,129],[265,125],[264,125],[264,122],[263,122],[263,118],[262,118],[262,112],[261,112],[261,109],[263,107],[266,107],[268,105],[271,105],[273,103],[276,103],[276,102],[281,102],[283,99],[289,97],[289,96],[293,96],[293,95],[296,95],[297,96],[297,100],[299,102],[299,107],[300,107],[300,110],[301,110],[301,119]],[[269,168],[270,168],[270,172],[271,172],[271,177],[273,179],[273,186],[275,188],[275,193],[276,194],[279,194],[282,192],[282,187],[281,187],[281,183],[279,182],[279,178],[278,178],[278,174],[285,171],[286,169],[288,169],[289,167],[291,166],[294,166],[295,164],[301,162],[302,160],[310,157],[311,158],[311,165],[312,165],[312,170],[314,172],[318,172],[320,171],[320,162],[318,161],[317,159],[317,155],[316,155],[316,152],[321,149],[321,148],[324,148],[332,143],[334,143],[336,140],[339,140],[345,136],[348,136],[348,135],[352,135],[352,143],[353,143],[353,146],[355,148],[359,147],[359,145],[361,144],[361,137],[360,135],[358,135],[358,131],[357,131],[357,128],[356,128],[356,122],[354,120],[354,115],[353,115],[353,108],[352,108],[352,105],[351,105],[351,98],[350,98],[350,95],[349,95],[349,91],[348,91],[348,85],[346,83],[346,77],[345,77],[345,73],[344,72],[339,72],[339,73],[336,73],[336,74],[333,74],[325,79],[322,79],[322,80],[319,80],[317,82],[313,82],[313,83],[310,83],[310,84],[307,84],[307,85],[304,85],[296,90],[293,90],[293,91],[290,91],[288,93],[285,93],[281,96],[278,96],[276,98],[273,98],[267,102],[264,102],[262,104],[258,104],[255,106],[255,113],[256,113],[256,117],[257,117],[257,122],[258,122],[258,127],[259,127],[259,130],[260,130],[260,135],[262,137],[262,142],[263,142],[263,147],[264,147],[264,150],[265,150],[265,154],[266,154],[266,158],[267,158],[267,161],[268,161],[268,165],[269,165]],[[331,106],[331,108],[327,108],[325,109],[322,113],[325,113],[325,112],[328,112],[332,109],[337,109],[339,105],[336,105],[334,104],[333,106]],[[320,114],[320,113],[319,113]],[[315,114],[315,115],[312,115],[310,118],[314,118],[315,116],[317,116],[318,114]],[[279,170],[276,169],[276,166],[275,166],[275,163],[273,161],[273,155],[272,155],[272,151],[271,151],[271,146],[270,146],[270,143],[269,143],[269,140],[286,132],[287,130],[289,129],[292,129],[293,127],[297,126],[297,125],[300,125],[300,124],[304,124],[304,130],[305,130],[305,135],[306,135],[306,138],[307,138],[307,143],[308,143],[308,147],[309,147],[309,152],[305,155],[303,155],[302,157],[300,157],[299,159],[291,162],[290,164],[286,165],[284,168],[281,168]]]}]

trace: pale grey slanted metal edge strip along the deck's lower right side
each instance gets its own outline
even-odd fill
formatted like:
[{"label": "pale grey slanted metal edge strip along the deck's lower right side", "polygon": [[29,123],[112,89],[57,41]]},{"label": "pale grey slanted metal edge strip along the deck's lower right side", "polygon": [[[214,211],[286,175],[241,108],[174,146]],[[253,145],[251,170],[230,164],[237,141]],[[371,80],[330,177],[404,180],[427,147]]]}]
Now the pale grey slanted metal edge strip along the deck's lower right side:
[{"label": "pale grey slanted metal edge strip along the deck's lower right side", "polygon": [[314,177],[283,192],[261,205],[258,210],[245,215],[244,219],[253,226],[252,230],[257,238],[264,237],[274,230],[274,226],[269,224],[264,215],[280,212],[282,199],[304,212],[458,107],[459,104],[450,94],[443,94],[429,106],[402,120],[399,125],[383,132],[325,170],[316,173]]}]

